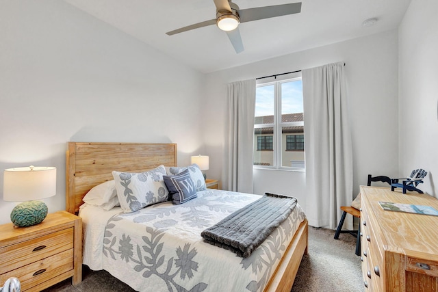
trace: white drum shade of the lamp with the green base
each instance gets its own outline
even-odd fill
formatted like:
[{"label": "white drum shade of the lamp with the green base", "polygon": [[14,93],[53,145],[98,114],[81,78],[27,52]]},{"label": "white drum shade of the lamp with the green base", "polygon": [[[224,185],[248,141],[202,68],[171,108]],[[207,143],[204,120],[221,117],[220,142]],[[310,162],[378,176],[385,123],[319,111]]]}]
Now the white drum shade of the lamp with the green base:
[{"label": "white drum shade of the lamp with the green base", "polygon": [[3,200],[23,202],[40,200],[56,194],[56,168],[9,168],[3,176]]}]

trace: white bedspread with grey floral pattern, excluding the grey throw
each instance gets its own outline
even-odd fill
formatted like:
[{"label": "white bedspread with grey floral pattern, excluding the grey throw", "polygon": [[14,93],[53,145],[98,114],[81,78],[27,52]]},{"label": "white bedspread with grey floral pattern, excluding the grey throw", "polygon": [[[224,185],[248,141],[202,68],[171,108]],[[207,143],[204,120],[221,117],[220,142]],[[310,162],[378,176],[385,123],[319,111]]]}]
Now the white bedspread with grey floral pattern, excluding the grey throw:
[{"label": "white bedspread with grey floral pattern, excluding the grey throw", "polygon": [[184,204],[164,202],[135,213],[83,207],[83,263],[138,291],[263,291],[305,219],[298,204],[248,258],[201,237],[205,228],[259,198],[207,189]]}]

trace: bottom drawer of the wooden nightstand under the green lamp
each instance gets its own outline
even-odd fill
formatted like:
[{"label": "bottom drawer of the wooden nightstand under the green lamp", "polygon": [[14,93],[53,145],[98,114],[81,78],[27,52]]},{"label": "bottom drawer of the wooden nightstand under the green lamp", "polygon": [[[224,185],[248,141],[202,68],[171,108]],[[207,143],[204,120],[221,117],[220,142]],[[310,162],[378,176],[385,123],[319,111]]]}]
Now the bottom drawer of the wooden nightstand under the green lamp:
[{"label": "bottom drawer of the wooden nightstand under the green lamp", "polygon": [[10,277],[20,279],[21,290],[25,291],[68,271],[71,271],[70,276],[73,276],[73,248],[13,271],[8,271],[8,273],[1,275],[1,278],[4,280]]}]

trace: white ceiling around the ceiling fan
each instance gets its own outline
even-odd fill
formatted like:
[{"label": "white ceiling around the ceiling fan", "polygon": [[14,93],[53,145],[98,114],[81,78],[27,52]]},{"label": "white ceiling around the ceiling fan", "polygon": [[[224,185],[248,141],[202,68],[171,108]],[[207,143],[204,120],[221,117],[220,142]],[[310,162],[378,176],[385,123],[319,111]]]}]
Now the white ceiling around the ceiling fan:
[{"label": "white ceiling around the ceiling fan", "polygon": [[[398,27],[411,0],[301,0],[300,14],[239,26],[236,54],[216,25],[174,36],[167,31],[216,17],[213,0],[64,0],[201,72],[214,72]],[[234,0],[240,9],[298,2]],[[372,27],[363,27],[368,18]]]}]

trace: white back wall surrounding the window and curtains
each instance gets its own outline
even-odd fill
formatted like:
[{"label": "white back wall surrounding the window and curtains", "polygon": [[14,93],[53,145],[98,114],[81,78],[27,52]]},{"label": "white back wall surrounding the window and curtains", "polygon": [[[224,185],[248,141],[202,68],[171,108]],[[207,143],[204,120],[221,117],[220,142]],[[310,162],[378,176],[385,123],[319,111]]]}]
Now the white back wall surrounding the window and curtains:
[{"label": "white back wall surrounding the window and curtains", "polygon": [[[354,155],[354,193],[359,192],[359,185],[366,184],[368,174],[396,176],[398,35],[397,31],[387,31],[207,75],[207,100],[203,117],[205,149],[213,157],[210,158],[209,177],[221,178],[224,185],[227,185],[222,169],[222,165],[226,166],[223,137],[227,135],[224,129],[224,118],[227,116],[227,83],[333,62],[346,62]],[[304,207],[305,189],[304,172],[254,171],[256,194],[263,194],[265,191],[289,194],[296,196]]]}]

